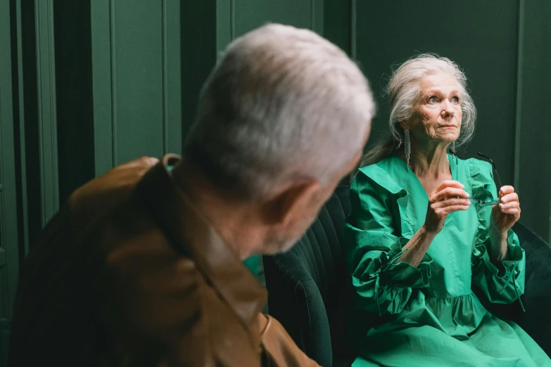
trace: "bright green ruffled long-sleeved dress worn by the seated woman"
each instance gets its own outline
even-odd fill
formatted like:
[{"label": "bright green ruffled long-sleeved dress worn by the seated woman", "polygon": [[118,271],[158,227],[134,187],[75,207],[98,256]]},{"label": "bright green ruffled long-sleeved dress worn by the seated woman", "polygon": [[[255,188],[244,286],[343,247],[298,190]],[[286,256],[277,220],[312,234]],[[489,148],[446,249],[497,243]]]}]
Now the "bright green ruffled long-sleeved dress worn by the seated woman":
[{"label": "bright green ruffled long-sleeved dress worn by the seated woman", "polygon": [[[452,179],[471,198],[497,198],[488,163],[449,159]],[[361,330],[353,366],[551,366],[524,330],[490,314],[471,291],[476,285],[496,303],[524,292],[526,261],[513,231],[509,259],[490,262],[491,207],[450,214],[415,268],[398,258],[424,224],[429,198],[405,162],[393,155],[360,169],[350,200],[344,243],[355,308],[366,318],[355,322],[366,325],[373,314],[389,320]]]}]

